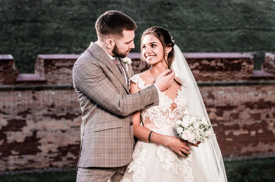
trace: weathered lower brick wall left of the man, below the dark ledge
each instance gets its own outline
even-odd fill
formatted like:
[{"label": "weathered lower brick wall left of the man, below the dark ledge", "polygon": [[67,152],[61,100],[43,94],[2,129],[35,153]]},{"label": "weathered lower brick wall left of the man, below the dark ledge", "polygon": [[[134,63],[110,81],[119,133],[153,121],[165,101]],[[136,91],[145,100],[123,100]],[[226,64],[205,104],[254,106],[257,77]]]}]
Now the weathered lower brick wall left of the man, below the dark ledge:
[{"label": "weathered lower brick wall left of the man, below the dark ledge", "polygon": [[76,166],[81,109],[74,89],[0,91],[0,171]]}]

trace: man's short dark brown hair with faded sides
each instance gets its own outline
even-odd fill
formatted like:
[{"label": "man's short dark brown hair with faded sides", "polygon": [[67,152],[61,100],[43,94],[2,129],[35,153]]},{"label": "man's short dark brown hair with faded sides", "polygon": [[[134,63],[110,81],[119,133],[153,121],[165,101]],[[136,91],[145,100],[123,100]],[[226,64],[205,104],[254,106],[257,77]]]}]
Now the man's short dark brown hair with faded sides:
[{"label": "man's short dark brown hair with faded sides", "polygon": [[106,11],[98,17],[95,28],[99,40],[117,39],[123,36],[123,30],[136,30],[137,25],[127,15],[119,11]]}]

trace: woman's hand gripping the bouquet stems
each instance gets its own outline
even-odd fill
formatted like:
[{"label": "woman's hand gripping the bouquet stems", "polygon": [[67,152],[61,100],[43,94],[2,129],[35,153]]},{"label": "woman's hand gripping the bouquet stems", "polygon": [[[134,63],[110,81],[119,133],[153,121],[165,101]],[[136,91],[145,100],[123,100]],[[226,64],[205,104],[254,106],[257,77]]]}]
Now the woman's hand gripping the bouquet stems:
[{"label": "woman's hand gripping the bouquet stems", "polygon": [[191,154],[191,152],[189,152],[191,150],[189,146],[199,147],[198,144],[200,144],[200,142],[198,142],[197,144],[193,144],[177,137],[168,137],[169,138],[167,146],[169,146],[172,150],[177,152],[182,157],[185,157],[185,155],[182,154],[182,152],[186,154]]}]

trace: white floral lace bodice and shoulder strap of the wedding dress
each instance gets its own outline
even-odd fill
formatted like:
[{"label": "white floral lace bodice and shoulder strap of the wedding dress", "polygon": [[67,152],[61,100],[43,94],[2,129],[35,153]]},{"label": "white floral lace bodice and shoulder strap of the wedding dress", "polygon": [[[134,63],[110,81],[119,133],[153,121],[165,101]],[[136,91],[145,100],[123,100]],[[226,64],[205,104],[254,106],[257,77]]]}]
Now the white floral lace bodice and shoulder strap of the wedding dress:
[{"label": "white floral lace bodice and shoulder strap of the wedding dress", "polygon": [[[150,84],[145,86],[145,81],[141,79],[139,74],[134,75],[129,80],[138,83],[140,89],[150,86]],[[172,103],[175,103],[177,107],[172,107]],[[160,92],[158,106],[141,110],[142,125],[153,131],[157,130],[160,134],[174,136],[172,127],[180,119],[187,106],[186,91],[183,86],[181,86],[181,90],[178,89],[177,97],[174,101],[165,92]]]}]

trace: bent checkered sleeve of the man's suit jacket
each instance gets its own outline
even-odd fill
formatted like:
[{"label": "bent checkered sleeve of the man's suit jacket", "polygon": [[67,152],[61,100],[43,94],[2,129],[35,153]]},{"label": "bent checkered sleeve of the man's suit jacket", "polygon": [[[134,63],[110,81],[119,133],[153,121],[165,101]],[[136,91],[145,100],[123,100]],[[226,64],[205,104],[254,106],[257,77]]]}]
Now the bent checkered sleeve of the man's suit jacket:
[{"label": "bent checkered sleeve of the man's suit jacket", "polygon": [[151,103],[159,104],[156,86],[149,86],[138,93],[121,95],[98,63],[91,60],[83,59],[75,62],[73,84],[101,107],[120,116],[127,116],[150,107]]}]

